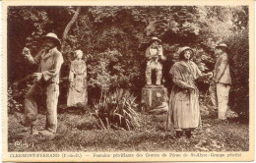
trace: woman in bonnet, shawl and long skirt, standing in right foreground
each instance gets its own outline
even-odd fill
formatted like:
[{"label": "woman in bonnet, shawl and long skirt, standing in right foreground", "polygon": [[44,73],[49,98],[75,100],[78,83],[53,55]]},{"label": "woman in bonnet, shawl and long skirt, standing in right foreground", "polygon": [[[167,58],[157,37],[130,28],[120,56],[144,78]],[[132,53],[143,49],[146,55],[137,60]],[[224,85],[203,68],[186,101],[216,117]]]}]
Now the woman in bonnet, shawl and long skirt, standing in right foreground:
[{"label": "woman in bonnet, shawl and long skirt, standing in right foreground", "polygon": [[197,65],[190,61],[193,57],[190,47],[183,47],[179,54],[179,62],[170,69],[174,85],[169,98],[167,129],[174,127],[177,137],[183,132],[187,137],[192,136],[192,131],[201,123],[199,109],[199,92],[195,80],[205,80],[210,74],[202,75]]}]

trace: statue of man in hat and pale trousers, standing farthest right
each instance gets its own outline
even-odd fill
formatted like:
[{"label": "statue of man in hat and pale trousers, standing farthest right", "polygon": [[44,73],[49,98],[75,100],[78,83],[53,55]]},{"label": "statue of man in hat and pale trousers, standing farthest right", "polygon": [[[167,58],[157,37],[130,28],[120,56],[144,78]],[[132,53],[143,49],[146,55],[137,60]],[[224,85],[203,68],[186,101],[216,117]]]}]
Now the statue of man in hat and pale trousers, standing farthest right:
[{"label": "statue of man in hat and pale trousers, standing farthest right", "polygon": [[232,83],[226,51],[226,44],[221,43],[216,46],[216,54],[218,59],[215,64],[213,80],[216,82],[218,117],[220,120],[226,119],[228,94]]}]

